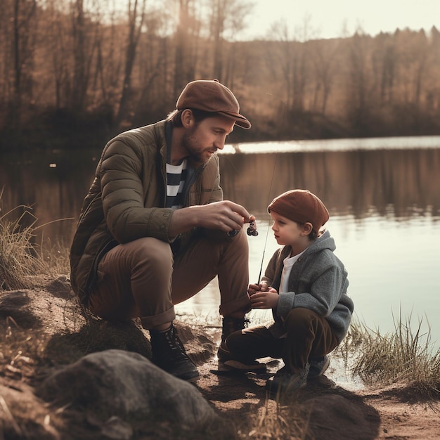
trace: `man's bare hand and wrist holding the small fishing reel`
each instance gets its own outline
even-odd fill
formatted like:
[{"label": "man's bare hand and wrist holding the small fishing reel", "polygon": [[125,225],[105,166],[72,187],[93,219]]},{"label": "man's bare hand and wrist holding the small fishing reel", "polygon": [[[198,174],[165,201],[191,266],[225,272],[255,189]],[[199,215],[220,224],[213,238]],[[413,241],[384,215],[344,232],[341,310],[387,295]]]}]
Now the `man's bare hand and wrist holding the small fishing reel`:
[{"label": "man's bare hand and wrist holding the small fishing reel", "polygon": [[169,235],[179,235],[198,226],[225,232],[239,230],[249,218],[244,207],[230,200],[176,209],[169,225]]}]

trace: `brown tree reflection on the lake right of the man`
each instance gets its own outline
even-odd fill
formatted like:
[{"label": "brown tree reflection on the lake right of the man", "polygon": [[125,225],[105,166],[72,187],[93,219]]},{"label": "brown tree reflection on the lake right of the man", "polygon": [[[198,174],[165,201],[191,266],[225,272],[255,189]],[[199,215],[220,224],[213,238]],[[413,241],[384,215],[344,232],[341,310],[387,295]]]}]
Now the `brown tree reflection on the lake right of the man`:
[{"label": "brown tree reflection on the lake right of the man", "polygon": [[440,149],[224,155],[221,185],[252,212],[286,189],[307,188],[333,214],[362,218],[375,208],[407,218],[439,212],[439,164]]}]

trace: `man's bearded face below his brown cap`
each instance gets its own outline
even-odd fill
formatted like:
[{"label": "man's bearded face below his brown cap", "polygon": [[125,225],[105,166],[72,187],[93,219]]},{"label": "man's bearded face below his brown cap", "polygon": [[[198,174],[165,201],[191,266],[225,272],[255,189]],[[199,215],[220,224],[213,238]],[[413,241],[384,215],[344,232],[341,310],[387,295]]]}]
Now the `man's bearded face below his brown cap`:
[{"label": "man's bearded face below his brown cap", "polygon": [[235,121],[228,117],[207,117],[193,123],[183,136],[183,148],[195,162],[205,163],[217,150],[223,150],[226,136],[231,134]]}]

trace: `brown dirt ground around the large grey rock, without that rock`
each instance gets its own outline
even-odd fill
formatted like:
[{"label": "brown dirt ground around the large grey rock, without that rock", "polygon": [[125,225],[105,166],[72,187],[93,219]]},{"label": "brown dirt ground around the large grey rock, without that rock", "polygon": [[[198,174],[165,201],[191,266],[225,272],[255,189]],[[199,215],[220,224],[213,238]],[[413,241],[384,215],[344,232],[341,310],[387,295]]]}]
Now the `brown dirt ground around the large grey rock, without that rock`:
[{"label": "brown dirt ground around the large grey rock, without that rock", "polygon": [[[103,323],[94,327],[91,323],[84,325],[72,305],[71,295],[65,277],[42,280],[30,290],[0,291],[1,331],[6,332],[0,339],[0,440],[8,438],[2,435],[4,429],[1,429],[6,425],[12,426],[14,432],[24,432],[20,424],[26,422],[25,415],[11,411],[17,407],[14,399],[27,399],[29,418],[41,418],[42,425],[47,419],[46,406],[32,398],[32,385],[39,380],[35,374],[41,373],[45,365],[39,361],[38,368],[34,368],[37,362],[28,352],[32,347],[18,344],[15,334],[19,331],[30,335],[27,339],[38,332],[34,344],[41,352],[39,358],[48,362],[47,368],[68,363],[69,356],[79,356],[67,349],[74,347],[75,342],[77,350],[82,337],[93,336],[93,341],[104,341],[107,348],[128,349],[148,356],[147,332],[133,330],[136,327],[133,325],[127,329],[117,328],[117,332],[125,332],[121,340],[132,341],[131,345],[120,346],[120,341],[109,339],[112,329]],[[280,368],[279,361],[266,359],[268,372],[264,374],[225,373],[219,371],[215,355],[221,331],[218,326],[179,321],[176,327],[200,370],[195,387],[216,413],[235,424],[238,439],[297,439],[300,437],[293,436],[290,428],[301,423],[304,426],[299,430],[305,433],[304,439],[440,439],[438,402],[398,384],[384,388],[354,384],[346,380],[341,363],[331,355],[330,368],[324,376],[310,380],[295,396],[275,401],[266,395],[264,384],[269,375]],[[12,342],[18,345],[15,347]],[[27,344],[32,344],[32,339],[27,340]],[[32,436],[29,431],[30,424],[25,425],[26,436],[14,439],[37,439],[38,436]],[[47,431],[47,427],[45,429]]]}]

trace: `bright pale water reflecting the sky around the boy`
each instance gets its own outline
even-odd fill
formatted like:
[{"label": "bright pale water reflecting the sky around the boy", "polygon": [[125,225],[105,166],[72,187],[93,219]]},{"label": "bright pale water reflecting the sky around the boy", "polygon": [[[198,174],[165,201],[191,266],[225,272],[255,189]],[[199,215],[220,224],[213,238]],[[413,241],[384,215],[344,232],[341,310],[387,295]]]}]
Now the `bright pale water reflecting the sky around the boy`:
[{"label": "bright pale water reflecting the sky around the boy", "polygon": [[[411,317],[413,328],[422,321],[422,330],[431,326],[432,339],[439,345],[440,271],[439,247],[433,237],[440,235],[440,222],[431,215],[411,219],[391,219],[372,214],[365,219],[332,216],[327,227],[337,244],[336,254],[349,271],[349,294],[354,299],[356,318],[370,328],[394,330],[393,316],[399,321]],[[250,278],[258,279],[278,248],[270,229],[266,251],[267,225],[258,237],[250,237]],[[264,261],[263,261],[264,259]],[[216,282],[190,301],[179,304],[178,311],[218,316]],[[252,311],[255,318],[270,319],[271,313]]]}]

